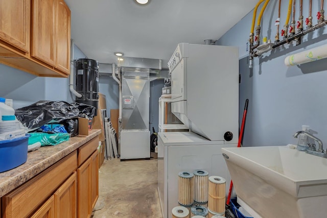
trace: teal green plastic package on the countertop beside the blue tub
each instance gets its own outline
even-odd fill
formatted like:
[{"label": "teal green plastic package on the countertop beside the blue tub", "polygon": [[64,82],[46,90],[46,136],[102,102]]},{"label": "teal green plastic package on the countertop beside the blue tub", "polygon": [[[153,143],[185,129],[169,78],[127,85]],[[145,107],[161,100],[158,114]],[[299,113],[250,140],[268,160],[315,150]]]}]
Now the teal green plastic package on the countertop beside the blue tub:
[{"label": "teal green plastic package on the countertop beside the blue tub", "polygon": [[63,141],[69,140],[69,133],[42,133],[35,132],[29,133],[31,137],[29,137],[29,144],[34,144],[36,142],[41,142],[41,146],[55,146],[56,144],[60,144]]}]

